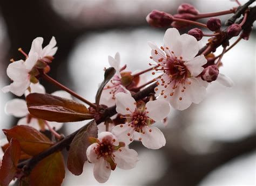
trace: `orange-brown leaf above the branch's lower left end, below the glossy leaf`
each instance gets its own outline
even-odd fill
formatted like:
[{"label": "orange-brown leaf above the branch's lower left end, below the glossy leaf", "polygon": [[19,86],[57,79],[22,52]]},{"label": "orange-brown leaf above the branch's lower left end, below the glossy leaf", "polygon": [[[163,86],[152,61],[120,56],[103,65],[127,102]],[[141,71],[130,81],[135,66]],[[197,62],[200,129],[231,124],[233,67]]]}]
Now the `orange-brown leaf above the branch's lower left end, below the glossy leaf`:
[{"label": "orange-brown leaf above the branch's lower left end, below the glossy leaf", "polygon": [[17,139],[21,144],[22,151],[31,156],[39,154],[53,145],[49,138],[30,126],[19,125],[3,131],[8,141],[11,138]]}]

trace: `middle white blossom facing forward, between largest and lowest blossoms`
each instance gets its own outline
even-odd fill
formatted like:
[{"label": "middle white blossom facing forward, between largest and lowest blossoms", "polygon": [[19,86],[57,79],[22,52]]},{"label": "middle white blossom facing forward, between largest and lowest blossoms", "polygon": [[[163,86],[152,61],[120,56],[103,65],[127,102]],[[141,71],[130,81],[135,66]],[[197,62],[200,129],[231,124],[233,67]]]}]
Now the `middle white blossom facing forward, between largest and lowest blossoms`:
[{"label": "middle white blossom facing forward, between largest and lowest blossoms", "polygon": [[[149,101],[144,104],[136,103],[131,95],[118,93],[116,95],[117,112],[125,115],[127,124],[117,125],[112,129],[112,133],[126,145],[136,140],[151,149],[158,149],[165,146],[164,134],[154,126],[154,121],[166,118],[170,112],[169,103],[163,100]],[[135,134],[135,135],[134,135]]]}]

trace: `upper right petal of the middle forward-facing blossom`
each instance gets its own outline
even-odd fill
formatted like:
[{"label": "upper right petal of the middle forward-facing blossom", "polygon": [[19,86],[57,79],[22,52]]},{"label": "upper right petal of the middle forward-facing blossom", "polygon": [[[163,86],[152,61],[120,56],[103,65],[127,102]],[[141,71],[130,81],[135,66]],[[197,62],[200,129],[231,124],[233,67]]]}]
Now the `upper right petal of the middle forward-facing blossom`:
[{"label": "upper right petal of the middle forward-facing blossom", "polygon": [[170,112],[170,105],[164,100],[149,101],[146,103],[147,116],[154,121],[160,121],[166,118]]}]

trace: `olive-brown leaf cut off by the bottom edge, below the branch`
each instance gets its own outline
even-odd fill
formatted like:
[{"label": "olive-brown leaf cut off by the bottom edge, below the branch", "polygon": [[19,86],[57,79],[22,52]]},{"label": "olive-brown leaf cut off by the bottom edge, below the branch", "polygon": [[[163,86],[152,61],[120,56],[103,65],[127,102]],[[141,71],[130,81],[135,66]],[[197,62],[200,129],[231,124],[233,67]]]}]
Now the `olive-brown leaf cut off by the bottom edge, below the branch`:
[{"label": "olive-brown leaf cut off by the bottom edge, below the branch", "polygon": [[45,186],[62,184],[65,165],[62,153],[54,153],[40,161],[30,173],[30,185]]}]

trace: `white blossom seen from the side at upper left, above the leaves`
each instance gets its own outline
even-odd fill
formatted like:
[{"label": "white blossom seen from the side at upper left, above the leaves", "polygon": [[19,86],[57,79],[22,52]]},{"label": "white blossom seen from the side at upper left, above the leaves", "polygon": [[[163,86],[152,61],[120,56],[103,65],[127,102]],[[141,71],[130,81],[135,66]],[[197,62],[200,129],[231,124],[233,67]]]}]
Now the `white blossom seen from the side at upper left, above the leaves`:
[{"label": "white blossom seen from the side at upper left, above the leaves", "polygon": [[[22,96],[30,87],[31,82],[35,81],[33,76],[33,68],[38,60],[51,62],[53,55],[57,51],[55,37],[52,37],[49,45],[42,48],[43,38],[36,38],[32,41],[32,46],[29,55],[26,55],[26,60],[18,60],[10,63],[6,73],[13,81],[10,85],[2,88],[3,92],[12,92],[16,96]],[[38,81],[38,80],[36,80]]]}]

